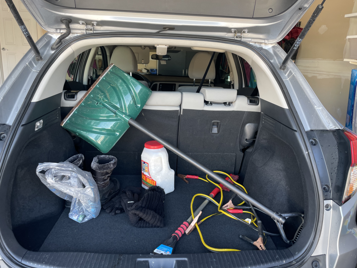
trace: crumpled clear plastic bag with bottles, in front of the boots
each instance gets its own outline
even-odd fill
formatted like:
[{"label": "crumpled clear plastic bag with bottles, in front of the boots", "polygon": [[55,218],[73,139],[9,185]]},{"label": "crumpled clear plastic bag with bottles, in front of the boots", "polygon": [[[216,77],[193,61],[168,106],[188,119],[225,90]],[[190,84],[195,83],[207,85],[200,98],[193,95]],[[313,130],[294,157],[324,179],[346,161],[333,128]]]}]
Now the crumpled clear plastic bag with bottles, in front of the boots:
[{"label": "crumpled clear plastic bag with bottles, in front of the boots", "polygon": [[83,171],[69,162],[60,162],[40,163],[36,174],[56,195],[72,200],[69,213],[71,219],[82,223],[99,215],[99,191],[90,172]]}]

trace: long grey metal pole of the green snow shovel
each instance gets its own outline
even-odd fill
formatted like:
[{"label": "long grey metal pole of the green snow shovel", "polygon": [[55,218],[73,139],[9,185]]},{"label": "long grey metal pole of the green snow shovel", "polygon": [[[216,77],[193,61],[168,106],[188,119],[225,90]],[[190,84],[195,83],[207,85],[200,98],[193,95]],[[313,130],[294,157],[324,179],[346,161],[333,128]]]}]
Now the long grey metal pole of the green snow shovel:
[{"label": "long grey metal pole of the green snow shovel", "polygon": [[166,142],[166,140],[161,139],[160,137],[156,136],[154,133],[152,133],[151,131],[146,129],[144,126],[142,126],[141,124],[137,123],[134,119],[130,118],[128,123],[131,124],[132,126],[134,126],[135,128],[139,129],[140,131],[142,131],[143,133],[145,133],[149,137],[153,138],[157,142],[161,143],[167,149],[169,149],[170,151],[174,152],[179,157],[185,159],[188,163],[194,165],[196,168],[200,169],[202,172],[205,172],[206,174],[208,174],[208,176],[210,176],[211,178],[215,179],[217,182],[223,184],[225,187],[227,187],[228,189],[233,191],[233,193],[236,193],[239,197],[243,198],[247,202],[249,202],[252,205],[254,205],[255,207],[257,207],[258,209],[262,210],[264,213],[269,215],[272,219],[276,220],[277,222],[279,222],[281,224],[285,223],[285,220],[286,220],[285,217],[282,217],[277,212],[267,208],[265,205],[261,204],[260,202],[258,202],[254,198],[250,197],[248,194],[246,194],[242,190],[234,187],[234,185],[229,183],[227,180],[222,179],[219,175],[214,173],[212,170],[206,168],[204,165],[198,163],[195,159],[193,159],[193,158],[189,157],[187,154],[181,152],[175,146],[173,146],[172,144]]}]

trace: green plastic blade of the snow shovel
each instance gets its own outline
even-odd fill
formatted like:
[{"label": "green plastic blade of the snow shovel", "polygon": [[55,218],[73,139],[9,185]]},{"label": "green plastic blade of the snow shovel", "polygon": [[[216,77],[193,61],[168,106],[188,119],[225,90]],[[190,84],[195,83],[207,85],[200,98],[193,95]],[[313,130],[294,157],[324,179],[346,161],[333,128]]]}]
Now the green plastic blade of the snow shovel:
[{"label": "green plastic blade of the snow shovel", "polygon": [[114,64],[99,76],[61,126],[107,153],[129,128],[151,90]]}]

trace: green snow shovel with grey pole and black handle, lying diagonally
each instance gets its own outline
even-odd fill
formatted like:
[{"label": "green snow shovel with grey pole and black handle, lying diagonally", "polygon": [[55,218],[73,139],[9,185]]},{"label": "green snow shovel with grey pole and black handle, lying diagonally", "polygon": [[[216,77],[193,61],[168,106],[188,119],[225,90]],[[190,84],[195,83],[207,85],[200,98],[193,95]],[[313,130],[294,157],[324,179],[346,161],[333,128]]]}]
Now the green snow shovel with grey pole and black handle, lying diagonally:
[{"label": "green snow shovel with grey pole and black handle, lying diagonally", "polygon": [[149,88],[111,64],[73,107],[61,126],[86,140],[102,153],[109,152],[129,128],[129,124],[134,126],[269,215],[275,220],[284,241],[290,244],[282,225],[287,217],[295,216],[292,215],[294,213],[283,217],[282,214],[267,208],[135,121],[150,95]]}]

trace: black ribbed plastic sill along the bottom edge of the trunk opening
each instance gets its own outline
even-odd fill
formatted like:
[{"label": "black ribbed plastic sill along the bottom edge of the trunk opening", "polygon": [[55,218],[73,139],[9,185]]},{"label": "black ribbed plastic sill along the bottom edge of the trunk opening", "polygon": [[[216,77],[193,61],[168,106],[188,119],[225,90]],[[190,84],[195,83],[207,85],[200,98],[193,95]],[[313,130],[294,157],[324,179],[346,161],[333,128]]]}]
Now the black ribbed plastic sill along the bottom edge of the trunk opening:
[{"label": "black ribbed plastic sill along the bottom edge of the trunk opening", "polygon": [[[155,261],[153,260],[155,259]],[[158,260],[159,259],[159,260]],[[76,260],[76,261],[73,261]],[[127,255],[78,252],[26,252],[22,263],[36,268],[216,267],[264,268],[294,260],[289,250],[245,250],[220,253]],[[150,265],[149,262],[152,262]],[[156,265],[155,265],[156,264]]]}]

